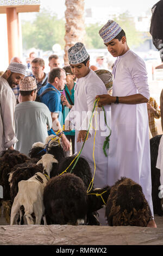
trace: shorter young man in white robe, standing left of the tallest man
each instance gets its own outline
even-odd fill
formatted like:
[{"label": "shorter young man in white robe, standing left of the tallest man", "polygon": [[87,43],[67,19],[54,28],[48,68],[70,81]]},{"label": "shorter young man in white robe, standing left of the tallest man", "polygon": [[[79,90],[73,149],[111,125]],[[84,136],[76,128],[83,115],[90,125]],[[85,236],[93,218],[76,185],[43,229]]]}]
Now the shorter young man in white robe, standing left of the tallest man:
[{"label": "shorter young man in white robe, standing left of the tallest man", "polygon": [[[72,73],[77,77],[77,83],[74,87],[74,106],[68,113],[65,121],[65,129],[67,123],[74,124],[76,131],[77,153],[82,149],[82,145],[89,127],[89,121],[97,94],[106,94],[107,90],[102,80],[94,71],[89,68],[90,57],[82,42],[77,42],[68,50],[68,59]],[[95,109],[96,112],[96,109]],[[100,113],[101,112],[101,113]],[[106,115],[108,116],[108,125],[110,125],[110,106],[105,107]],[[108,157],[103,152],[103,144],[105,137],[109,135],[109,131],[105,127],[104,112],[97,107],[97,132],[89,130],[89,137],[84,144],[84,148],[80,156],[85,157],[89,162],[92,176],[95,165],[93,161],[94,137],[95,137],[95,163],[96,172],[93,185],[95,187],[104,187],[108,185]],[[92,126],[96,128],[96,113],[92,119]],[[102,130],[103,129],[103,130]],[[104,132],[104,134],[102,134]],[[106,149],[108,153],[108,149]],[[103,224],[104,214],[103,214]]]}]

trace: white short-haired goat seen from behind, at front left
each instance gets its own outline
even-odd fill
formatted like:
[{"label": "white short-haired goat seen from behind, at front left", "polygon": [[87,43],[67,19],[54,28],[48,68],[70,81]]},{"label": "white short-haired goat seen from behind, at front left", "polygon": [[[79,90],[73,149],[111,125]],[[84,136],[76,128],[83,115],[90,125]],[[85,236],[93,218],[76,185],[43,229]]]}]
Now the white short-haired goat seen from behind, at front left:
[{"label": "white short-haired goat seen from behind, at front left", "polygon": [[[11,222],[13,225],[16,221],[17,214],[23,211],[27,224],[40,224],[45,208],[43,205],[43,189],[47,184],[47,175],[35,173],[32,178],[18,182],[18,193],[14,199],[11,208]],[[33,219],[35,216],[35,222]]]}]

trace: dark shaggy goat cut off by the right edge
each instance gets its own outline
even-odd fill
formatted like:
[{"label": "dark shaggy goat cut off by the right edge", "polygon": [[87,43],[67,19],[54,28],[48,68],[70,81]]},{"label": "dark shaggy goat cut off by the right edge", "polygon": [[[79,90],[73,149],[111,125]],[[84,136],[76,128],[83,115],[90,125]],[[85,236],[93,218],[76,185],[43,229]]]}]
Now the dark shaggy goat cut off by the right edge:
[{"label": "dark shaggy goat cut off by the right edge", "polygon": [[152,179],[152,201],[154,214],[163,215],[161,209],[161,198],[159,198],[160,187],[160,169],[156,168],[158,159],[158,150],[162,135],[157,135],[150,139],[151,149],[151,179]]}]

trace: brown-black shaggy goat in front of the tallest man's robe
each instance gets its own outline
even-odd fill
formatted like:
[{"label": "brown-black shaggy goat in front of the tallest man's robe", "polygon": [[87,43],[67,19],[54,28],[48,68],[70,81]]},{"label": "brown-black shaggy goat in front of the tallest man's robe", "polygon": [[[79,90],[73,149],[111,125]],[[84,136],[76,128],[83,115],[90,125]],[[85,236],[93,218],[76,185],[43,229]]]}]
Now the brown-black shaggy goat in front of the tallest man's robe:
[{"label": "brown-black shaggy goat in front of the tallest man's robe", "polygon": [[118,180],[111,187],[105,216],[111,226],[147,227],[152,218],[141,186],[128,178]]}]

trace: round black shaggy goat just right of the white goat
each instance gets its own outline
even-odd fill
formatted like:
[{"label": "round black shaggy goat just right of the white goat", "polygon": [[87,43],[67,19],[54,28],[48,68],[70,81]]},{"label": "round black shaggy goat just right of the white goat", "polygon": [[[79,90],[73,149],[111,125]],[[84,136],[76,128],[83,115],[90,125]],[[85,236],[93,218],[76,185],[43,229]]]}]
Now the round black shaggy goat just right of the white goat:
[{"label": "round black shaggy goat just right of the white goat", "polygon": [[43,191],[47,224],[84,224],[87,192],[79,177],[66,173],[53,177]]}]

